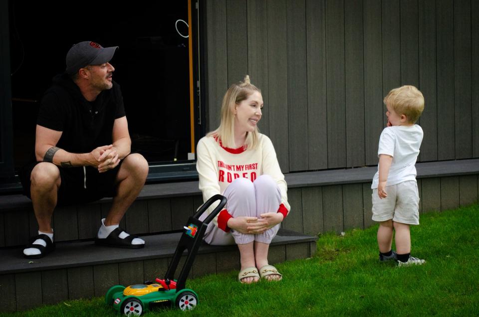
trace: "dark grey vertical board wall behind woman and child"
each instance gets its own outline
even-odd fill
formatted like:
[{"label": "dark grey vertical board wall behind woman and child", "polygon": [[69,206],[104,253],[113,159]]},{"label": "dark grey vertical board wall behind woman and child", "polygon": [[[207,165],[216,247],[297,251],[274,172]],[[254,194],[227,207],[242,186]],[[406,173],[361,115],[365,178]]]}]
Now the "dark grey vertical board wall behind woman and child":
[{"label": "dark grey vertical board wall behind woman and child", "polygon": [[419,161],[479,157],[479,1],[206,0],[207,130],[249,74],[283,172],[377,164],[383,98],[424,94]]}]

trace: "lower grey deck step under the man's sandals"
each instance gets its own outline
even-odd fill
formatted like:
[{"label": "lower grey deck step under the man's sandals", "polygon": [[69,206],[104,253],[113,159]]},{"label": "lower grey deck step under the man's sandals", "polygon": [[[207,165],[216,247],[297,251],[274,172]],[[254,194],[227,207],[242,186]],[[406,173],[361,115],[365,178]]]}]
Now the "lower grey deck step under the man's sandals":
[{"label": "lower grey deck step under the man's sandals", "polygon": [[[47,257],[28,260],[22,248],[0,249],[0,312],[25,310],[64,300],[104,296],[113,285],[131,285],[163,277],[181,232],[148,235],[144,249],[100,247],[92,241],[59,242]],[[317,237],[280,229],[269,262],[310,257]],[[190,278],[239,270],[236,246],[200,247]],[[179,274],[182,264],[177,269]]]}]

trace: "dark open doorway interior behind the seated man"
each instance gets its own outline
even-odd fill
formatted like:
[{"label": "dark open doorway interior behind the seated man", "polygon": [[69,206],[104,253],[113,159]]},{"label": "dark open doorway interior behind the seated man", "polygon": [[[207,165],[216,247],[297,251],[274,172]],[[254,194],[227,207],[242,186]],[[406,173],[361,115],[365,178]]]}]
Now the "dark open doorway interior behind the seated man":
[{"label": "dark open doorway interior behind the seated man", "polygon": [[[11,90],[15,168],[33,153],[43,92],[64,71],[72,44],[119,46],[111,64],[121,85],[132,152],[151,164],[187,160],[190,149],[188,0],[10,0]],[[178,31],[188,35],[179,21]]]}]

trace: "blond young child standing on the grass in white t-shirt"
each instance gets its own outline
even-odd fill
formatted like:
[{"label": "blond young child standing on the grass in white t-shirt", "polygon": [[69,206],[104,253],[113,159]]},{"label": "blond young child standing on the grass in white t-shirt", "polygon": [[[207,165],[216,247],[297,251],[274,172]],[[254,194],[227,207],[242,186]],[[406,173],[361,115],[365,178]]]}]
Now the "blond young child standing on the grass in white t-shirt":
[{"label": "blond young child standing on the grass in white t-shirt", "polygon": [[[373,217],[378,221],[379,260],[397,260],[399,266],[421,265],[411,256],[410,225],[419,224],[419,192],[416,159],[423,130],[416,121],[424,110],[423,94],[414,86],[402,86],[384,98],[387,127],[379,139],[379,164],[374,175]],[[391,250],[393,228],[396,252]]]}]

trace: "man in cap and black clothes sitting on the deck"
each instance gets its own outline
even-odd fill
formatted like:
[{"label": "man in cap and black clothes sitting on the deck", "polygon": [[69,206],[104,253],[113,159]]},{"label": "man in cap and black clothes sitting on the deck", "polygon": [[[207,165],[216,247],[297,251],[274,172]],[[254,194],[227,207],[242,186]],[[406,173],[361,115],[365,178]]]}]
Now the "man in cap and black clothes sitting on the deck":
[{"label": "man in cap and black clothes sitting on the deck", "polygon": [[101,220],[95,243],[141,248],[145,241],[118,227],[138,196],[148,162],[130,154],[131,140],[120,87],[109,63],[118,46],[84,41],[66,55],[66,71],[53,78],[38,113],[36,161],[21,173],[24,193],[31,198],[38,236],[23,254],[41,258],[54,250],[51,217],[57,205],[113,197]]}]

